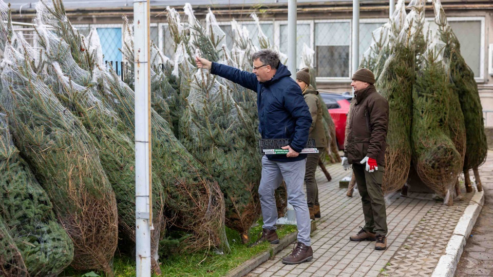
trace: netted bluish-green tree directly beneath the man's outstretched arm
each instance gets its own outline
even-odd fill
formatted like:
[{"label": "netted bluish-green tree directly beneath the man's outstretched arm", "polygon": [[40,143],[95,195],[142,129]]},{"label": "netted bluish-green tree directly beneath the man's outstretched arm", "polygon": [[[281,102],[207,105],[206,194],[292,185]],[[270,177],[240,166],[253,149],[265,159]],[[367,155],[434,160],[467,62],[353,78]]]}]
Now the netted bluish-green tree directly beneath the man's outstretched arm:
[{"label": "netted bluish-green tree directly beneath the man's outstretched arm", "polygon": [[258,219],[261,155],[257,130],[216,76],[199,69],[183,114],[182,143],[217,180],[226,207],[226,226],[240,232],[243,243]]}]

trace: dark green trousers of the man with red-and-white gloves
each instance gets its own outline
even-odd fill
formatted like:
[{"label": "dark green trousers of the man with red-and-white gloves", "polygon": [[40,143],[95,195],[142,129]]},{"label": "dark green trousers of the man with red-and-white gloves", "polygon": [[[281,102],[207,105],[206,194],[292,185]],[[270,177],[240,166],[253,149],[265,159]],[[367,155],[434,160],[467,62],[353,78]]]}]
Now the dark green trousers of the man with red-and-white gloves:
[{"label": "dark green trousers of the man with red-and-white gloves", "polygon": [[383,166],[378,166],[378,170],[368,172],[365,170],[365,166],[365,164],[353,164],[353,172],[365,215],[365,227],[363,229],[367,232],[386,236],[388,231],[387,212],[384,193],[382,192],[385,169]]}]

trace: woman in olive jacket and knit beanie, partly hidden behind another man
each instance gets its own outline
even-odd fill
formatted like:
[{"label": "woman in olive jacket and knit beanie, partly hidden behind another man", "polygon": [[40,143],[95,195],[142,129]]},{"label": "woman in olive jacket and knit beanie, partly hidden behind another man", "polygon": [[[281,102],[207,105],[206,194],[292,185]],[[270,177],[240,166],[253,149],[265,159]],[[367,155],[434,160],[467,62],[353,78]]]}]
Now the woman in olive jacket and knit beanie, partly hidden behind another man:
[{"label": "woman in olive jacket and knit beanie, partly hidden behind another man", "polygon": [[310,72],[308,68],[303,68],[296,72],[296,83],[301,88],[305,102],[307,102],[308,109],[312,115],[312,125],[310,126],[308,138],[315,140],[315,146],[318,149],[318,153],[308,154],[305,172],[308,210],[310,212],[310,219],[314,220],[315,218],[320,218],[320,203],[318,203],[318,186],[315,180],[315,171],[318,166],[318,160],[320,160],[320,154],[327,147],[327,137],[322,122],[322,109],[325,109],[326,105],[319,100],[317,96],[318,91],[310,86]]}]

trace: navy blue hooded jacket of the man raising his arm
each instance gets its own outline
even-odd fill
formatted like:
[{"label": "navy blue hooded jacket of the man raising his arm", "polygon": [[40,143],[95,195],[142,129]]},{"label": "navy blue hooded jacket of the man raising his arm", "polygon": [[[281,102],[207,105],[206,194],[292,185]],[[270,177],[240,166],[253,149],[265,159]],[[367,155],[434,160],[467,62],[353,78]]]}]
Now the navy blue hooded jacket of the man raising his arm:
[{"label": "navy blue hooded jacket of the man raising his arm", "polygon": [[[254,73],[218,63],[212,63],[211,73],[257,92],[258,131],[262,138],[290,138],[291,148],[298,153],[305,148],[312,116],[301,89],[285,65],[279,64],[274,77],[263,83],[257,81]],[[306,154],[267,155],[269,160],[278,162],[296,162],[306,157]]]}]

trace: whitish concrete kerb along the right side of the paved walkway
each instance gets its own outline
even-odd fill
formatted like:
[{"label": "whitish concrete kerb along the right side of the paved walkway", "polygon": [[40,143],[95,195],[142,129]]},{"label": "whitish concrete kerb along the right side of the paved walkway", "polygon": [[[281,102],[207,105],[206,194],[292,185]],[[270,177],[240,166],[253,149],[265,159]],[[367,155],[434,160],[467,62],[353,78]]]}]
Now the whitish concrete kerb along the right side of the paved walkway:
[{"label": "whitish concrete kerb along the right side of the paved walkway", "polygon": [[476,224],[483,205],[484,191],[476,191],[469,202],[469,206],[467,206],[459,219],[456,229],[453,230],[445,249],[445,254],[441,256],[440,261],[438,261],[437,266],[431,273],[431,277],[453,277],[466,245],[466,240],[471,234],[472,227]]}]

